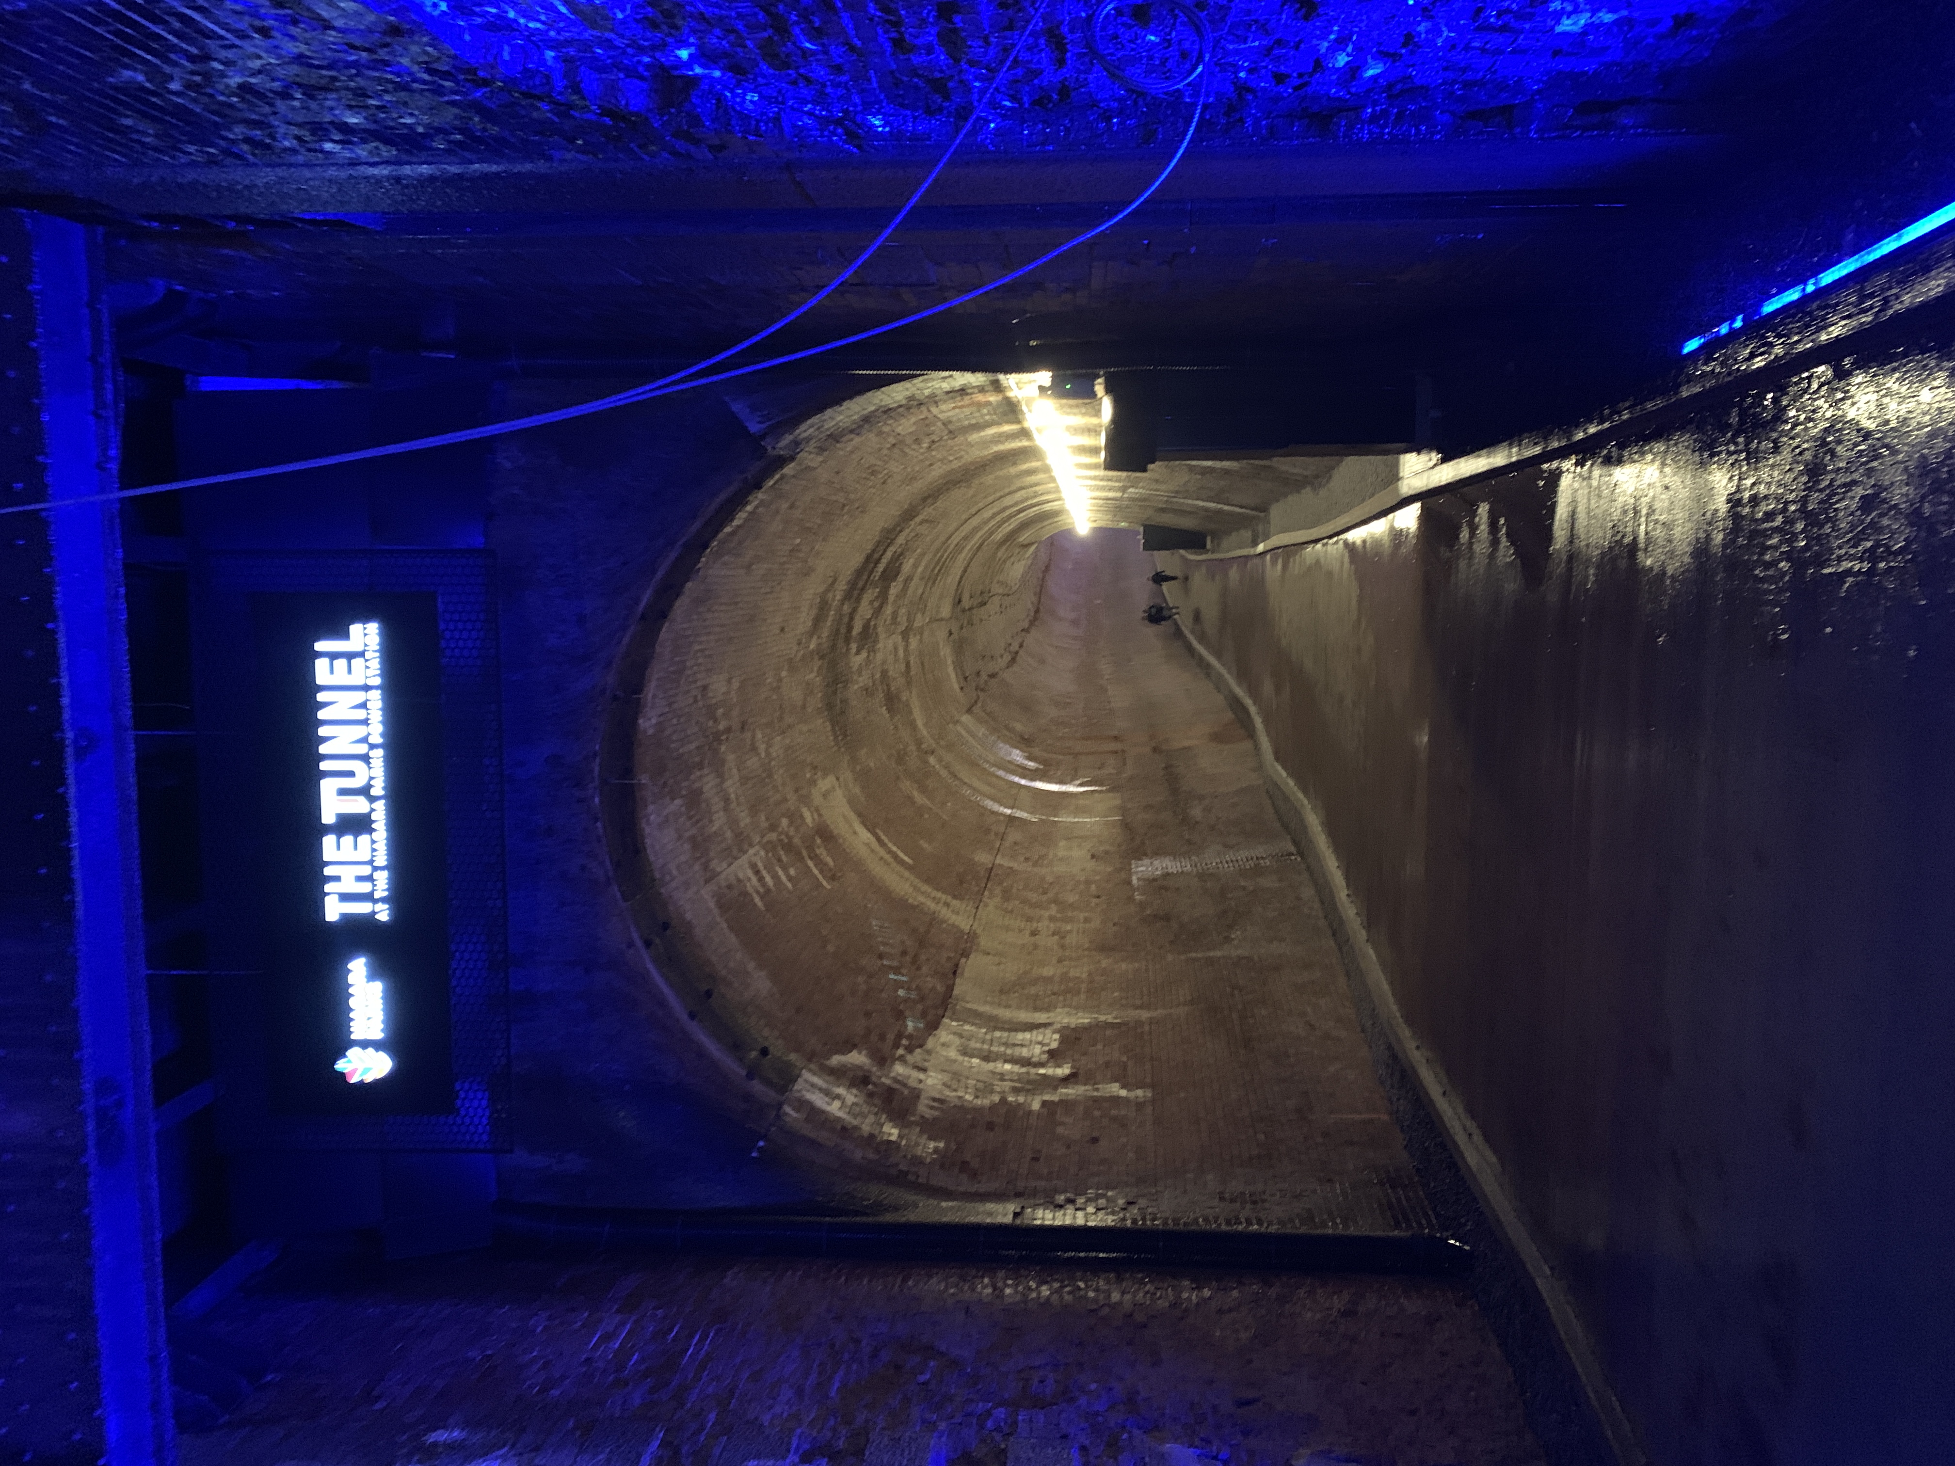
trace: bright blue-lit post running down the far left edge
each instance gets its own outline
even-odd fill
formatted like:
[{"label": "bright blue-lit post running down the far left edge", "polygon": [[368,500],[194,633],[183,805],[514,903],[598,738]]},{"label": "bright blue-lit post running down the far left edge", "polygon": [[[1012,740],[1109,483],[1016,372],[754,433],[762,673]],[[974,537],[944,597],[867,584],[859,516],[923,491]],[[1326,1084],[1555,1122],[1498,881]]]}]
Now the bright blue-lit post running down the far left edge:
[{"label": "bright blue-lit post running down the far left edge", "polygon": [[[135,735],[123,602],[115,364],[100,242],[27,215],[41,477],[61,668],[78,1097],[102,1450],[108,1466],[172,1458]],[[18,522],[18,518],[16,518]]]}]

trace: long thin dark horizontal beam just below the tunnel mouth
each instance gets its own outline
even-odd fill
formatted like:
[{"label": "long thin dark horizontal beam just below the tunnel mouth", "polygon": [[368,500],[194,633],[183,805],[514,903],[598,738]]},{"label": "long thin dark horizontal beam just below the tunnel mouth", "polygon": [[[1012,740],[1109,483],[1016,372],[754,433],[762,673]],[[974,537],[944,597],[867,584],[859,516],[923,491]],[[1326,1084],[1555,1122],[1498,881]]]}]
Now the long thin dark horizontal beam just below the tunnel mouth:
[{"label": "long thin dark horizontal beam just below the tunnel mouth", "polygon": [[497,1204],[497,1237],[575,1249],[739,1257],[835,1257],[878,1263],[1046,1263],[1073,1267],[1222,1267],[1269,1272],[1458,1276],[1472,1253],[1451,1237],[1337,1231],[888,1222],[790,1212],[639,1212]]}]

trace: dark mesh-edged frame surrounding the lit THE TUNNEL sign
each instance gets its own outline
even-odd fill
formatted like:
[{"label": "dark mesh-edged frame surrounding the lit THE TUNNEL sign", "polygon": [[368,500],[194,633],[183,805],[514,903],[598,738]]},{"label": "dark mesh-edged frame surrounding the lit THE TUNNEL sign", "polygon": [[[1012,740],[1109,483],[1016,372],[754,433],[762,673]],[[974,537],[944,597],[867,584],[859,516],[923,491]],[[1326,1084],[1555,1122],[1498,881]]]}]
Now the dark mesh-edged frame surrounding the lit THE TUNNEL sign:
[{"label": "dark mesh-edged frame surrounding the lit THE TUNNEL sign", "polygon": [[[510,1149],[502,676],[493,557],[475,549],[225,551],[192,567],[192,588],[205,966],[211,970],[223,1145]],[[409,796],[407,805],[413,805],[411,792],[434,803],[432,827],[413,809],[393,811],[389,821],[397,825],[405,817],[407,829],[418,829],[413,844],[432,860],[418,872],[413,862],[395,864],[389,891],[399,903],[407,893],[401,882],[411,882],[424,901],[418,928],[428,950],[414,960],[418,971],[442,973],[436,989],[446,989],[430,1001],[403,1007],[403,999],[414,997],[409,991],[414,971],[399,966],[397,948],[348,948],[326,983],[319,973],[319,952],[330,954],[330,944],[321,940],[326,925],[315,923],[311,936],[295,932],[301,897],[307,913],[317,903],[323,917],[326,862],[321,841],[330,833],[321,827],[319,764],[325,756],[319,723],[311,717],[321,690],[313,659],[344,653],[315,653],[311,641],[332,639],[328,633],[305,643],[303,672],[295,670],[289,647],[268,657],[260,608],[280,604],[344,610],[338,639],[348,637],[350,624],[373,620],[356,614],[362,606],[381,608],[383,627],[401,606],[426,608],[418,653],[413,639],[389,637],[397,653],[409,655],[405,663],[393,659],[389,680],[397,686],[383,690],[383,708],[385,739],[407,739],[403,747],[389,747],[389,803]],[[389,663],[385,651],[381,663]],[[413,749],[416,700],[420,729],[432,731],[418,756]],[[332,753],[352,758],[338,749]],[[356,770],[330,772],[352,776]],[[350,790],[340,786],[342,794]],[[309,858],[307,846],[293,842],[293,825],[305,819],[311,821]],[[405,850],[395,835],[395,852]],[[340,872],[338,880],[354,885],[366,876]],[[352,901],[366,893],[338,895]],[[432,913],[428,899],[436,901]],[[368,932],[373,928],[369,923]],[[446,948],[442,956],[432,954],[426,936],[436,928]],[[358,956],[368,958],[364,975],[377,977],[393,999],[383,1022],[413,1018],[420,1030],[420,1042],[411,1048],[377,1046],[395,1061],[414,1054],[414,1083],[393,1085],[409,1079],[409,1067],[369,1083],[348,1083],[332,1069],[346,1050],[371,1048],[350,1042],[348,964]],[[403,975],[409,981],[403,983]],[[326,1022],[338,1032],[325,1034]],[[385,1032],[391,1040],[405,1030],[389,1026]],[[325,1069],[313,1073],[319,1057],[313,1050],[323,1036],[338,1042],[325,1056]]]}]

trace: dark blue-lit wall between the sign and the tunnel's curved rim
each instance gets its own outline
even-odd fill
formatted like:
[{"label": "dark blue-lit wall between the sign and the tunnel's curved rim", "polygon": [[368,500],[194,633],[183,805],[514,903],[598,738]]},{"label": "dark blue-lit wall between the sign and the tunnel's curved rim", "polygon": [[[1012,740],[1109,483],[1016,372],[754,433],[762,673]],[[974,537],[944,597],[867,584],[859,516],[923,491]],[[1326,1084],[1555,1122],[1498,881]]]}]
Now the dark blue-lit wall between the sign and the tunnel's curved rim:
[{"label": "dark blue-lit wall between the sign and the tunnel's curved rim", "polygon": [[[586,383],[520,383],[499,410]],[[743,1108],[647,979],[598,817],[620,649],[778,459],[704,393],[504,438],[489,471],[508,788],[514,1147],[506,1198],[714,1206],[792,1196],[747,1161]]]}]

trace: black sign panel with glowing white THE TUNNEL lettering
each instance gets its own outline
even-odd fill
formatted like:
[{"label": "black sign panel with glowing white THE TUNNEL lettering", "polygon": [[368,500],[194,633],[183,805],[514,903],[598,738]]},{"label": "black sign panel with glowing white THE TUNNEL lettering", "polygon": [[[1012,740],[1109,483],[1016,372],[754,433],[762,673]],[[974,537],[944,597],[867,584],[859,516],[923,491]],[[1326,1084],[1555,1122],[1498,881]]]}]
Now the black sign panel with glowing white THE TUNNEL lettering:
[{"label": "black sign panel with glowing white THE TUNNEL lettering", "polygon": [[272,1097],[446,1114],[442,657],[424,592],[252,596]]}]

